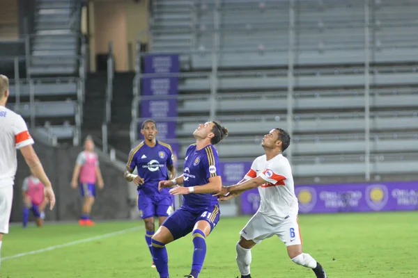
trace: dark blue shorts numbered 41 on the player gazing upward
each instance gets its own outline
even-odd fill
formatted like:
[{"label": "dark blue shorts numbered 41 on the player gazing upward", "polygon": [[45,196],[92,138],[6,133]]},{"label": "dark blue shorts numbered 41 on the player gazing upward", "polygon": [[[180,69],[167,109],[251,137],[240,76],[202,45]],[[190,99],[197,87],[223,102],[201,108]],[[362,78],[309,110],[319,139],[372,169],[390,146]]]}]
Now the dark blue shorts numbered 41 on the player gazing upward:
[{"label": "dark blue shorts numbered 41 on the player gazing upward", "polygon": [[192,211],[190,208],[183,205],[180,206],[178,210],[174,211],[173,214],[162,223],[162,226],[169,229],[174,240],[176,240],[189,234],[193,230],[194,224],[200,220],[208,221],[210,224],[210,231],[212,231],[217,222],[219,222],[220,216],[221,213],[219,211],[219,205],[217,204],[196,211]]}]

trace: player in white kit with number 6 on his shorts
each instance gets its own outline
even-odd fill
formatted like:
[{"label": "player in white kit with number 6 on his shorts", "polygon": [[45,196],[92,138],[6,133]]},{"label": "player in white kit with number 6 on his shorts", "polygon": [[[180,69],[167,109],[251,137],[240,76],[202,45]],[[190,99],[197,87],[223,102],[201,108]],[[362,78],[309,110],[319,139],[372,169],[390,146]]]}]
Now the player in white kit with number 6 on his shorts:
[{"label": "player in white kit with number 6 on his shorts", "polygon": [[226,201],[251,188],[258,188],[260,208],[241,230],[236,245],[238,269],[241,278],[251,278],[251,248],[262,240],[279,236],[286,245],[288,255],[294,263],[314,270],[316,277],[327,278],[323,267],[311,255],[302,251],[302,237],[297,223],[297,198],[291,165],[281,153],[291,143],[283,129],[272,129],[261,142],[265,155],[258,156],[251,170],[240,183],[222,187],[217,194]]}]

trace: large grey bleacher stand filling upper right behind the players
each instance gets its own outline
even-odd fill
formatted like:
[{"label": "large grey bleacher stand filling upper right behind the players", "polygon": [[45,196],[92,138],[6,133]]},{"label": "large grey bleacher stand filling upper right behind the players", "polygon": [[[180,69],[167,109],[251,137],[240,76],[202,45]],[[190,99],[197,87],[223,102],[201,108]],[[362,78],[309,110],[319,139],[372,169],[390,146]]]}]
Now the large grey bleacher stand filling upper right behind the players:
[{"label": "large grey bleacher stand filling upper right behind the players", "polygon": [[224,160],[261,154],[254,147],[261,135],[274,126],[288,129],[291,117],[296,176],[364,175],[368,10],[371,174],[416,170],[417,2],[378,0],[365,7],[361,0],[300,0],[292,12],[289,1],[215,3],[152,5],[151,52],[177,52],[183,70],[176,129],[180,155],[193,141],[196,120],[208,120],[215,97],[216,118],[231,133],[218,147]]}]

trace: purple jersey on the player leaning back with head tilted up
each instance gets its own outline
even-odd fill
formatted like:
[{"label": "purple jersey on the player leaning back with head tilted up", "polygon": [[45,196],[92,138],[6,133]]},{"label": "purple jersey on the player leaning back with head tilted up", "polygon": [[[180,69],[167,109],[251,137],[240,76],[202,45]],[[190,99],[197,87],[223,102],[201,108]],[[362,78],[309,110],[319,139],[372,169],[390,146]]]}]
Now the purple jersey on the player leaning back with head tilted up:
[{"label": "purple jersey on the player leaning back with head tilted up", "polygon": [[[220,168],[218,153],[213,145],[208,145],[199,151],[196,150],[196,144],[190,145],[185,157],[183,186],[203,186],[209,183],[210,177],[221,175]],[[183,195],[183,204],[198,210],[214,206],[218,204],[218,199],[212,195],[212,193]]]}]

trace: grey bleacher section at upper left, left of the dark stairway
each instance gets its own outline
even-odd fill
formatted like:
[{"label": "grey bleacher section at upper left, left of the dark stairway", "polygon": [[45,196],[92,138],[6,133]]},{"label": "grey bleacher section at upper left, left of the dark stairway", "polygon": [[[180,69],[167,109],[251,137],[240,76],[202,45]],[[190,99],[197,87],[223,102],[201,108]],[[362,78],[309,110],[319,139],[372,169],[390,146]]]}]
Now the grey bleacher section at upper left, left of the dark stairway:
[{"label": "grey bleacher section at upper left, left of the dark stairway", "polygon": [[[36,1],[33,11],[27,11],[33,13],[33,22],[29,22],[32,33],[25,45],[29,53],[18,57],[20,63],[15,64],[19,70],[13,70],[16,57],[0,57],[11,65],[11,72],[21,73],[16,79],[10,78],[8,106],[54,144],[78,142],[81,136],[84,78],[79,71],[80,9],[78,0]],[[8,14],[13,15],[10,10]],[[14,16],[17,18],[17,10]],[[17,28],[15,37],[20,37]],[[6,36],[0,33],[1,40]]]}]

